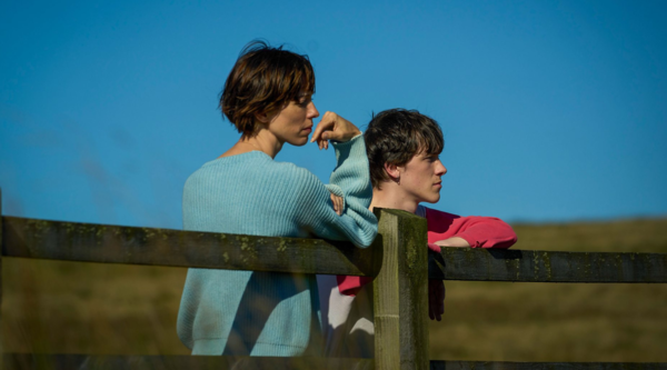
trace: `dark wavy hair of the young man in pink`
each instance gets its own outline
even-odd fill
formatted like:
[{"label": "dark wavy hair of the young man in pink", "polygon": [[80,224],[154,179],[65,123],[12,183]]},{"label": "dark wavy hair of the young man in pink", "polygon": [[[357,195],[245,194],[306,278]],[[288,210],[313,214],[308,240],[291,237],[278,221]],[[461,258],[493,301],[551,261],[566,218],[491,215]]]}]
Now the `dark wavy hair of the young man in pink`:
[{"label": "dark wavy hair of the young man in pink", "polygon": [[416,110],[389,109],[374,114],[364,133],[372,187],[389,181],[385,163],[405,166],[419,153],[439,154],[442,131],[432,118]]}]

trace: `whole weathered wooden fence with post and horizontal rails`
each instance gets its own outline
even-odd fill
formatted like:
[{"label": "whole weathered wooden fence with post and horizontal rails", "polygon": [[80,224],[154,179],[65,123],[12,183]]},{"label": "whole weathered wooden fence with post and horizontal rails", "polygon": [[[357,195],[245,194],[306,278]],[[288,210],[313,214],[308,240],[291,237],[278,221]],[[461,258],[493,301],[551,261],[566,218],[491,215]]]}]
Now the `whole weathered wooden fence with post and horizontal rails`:
[{"label": "whole weathered wooden fence with post and horizontal rails", "polygon": [[[0,193],[1,194],[1,193]],[[0,211],[1,211],[0,199]],[[667,369],[667,363],[482,362],[428,358],[427,279],[525,282],[667,282],[667,254],[426,248],[426,220],[377,209],[368,249],[320,239],[0,218],[6,258],[351,274],[374,280],[375,359],[2,353],[2,369]],[[261,256],[261,259],[259,258]],[[0,281],[1,282],[1,281]],[[11,283],[11,282],[3,282]],[[1,287],[1,284],[0,284]],[[0,290],[0,304],[1,304]]]}]

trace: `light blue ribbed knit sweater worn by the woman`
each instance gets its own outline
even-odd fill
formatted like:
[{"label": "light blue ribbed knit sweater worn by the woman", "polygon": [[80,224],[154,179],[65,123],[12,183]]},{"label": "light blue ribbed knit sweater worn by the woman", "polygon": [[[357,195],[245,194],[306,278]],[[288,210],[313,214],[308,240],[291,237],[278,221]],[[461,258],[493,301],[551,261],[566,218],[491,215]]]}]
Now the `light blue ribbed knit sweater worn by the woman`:
[{"label": "light blue ribbed knit sweater worn by the woman", "polygon": [[[334,148],[338,166],[328,186],[260,151],[203,164],[186,181],[183,229],[369,246],[377,220],[368,210],[372,188],[364,138]],[[334,211],[330,191],[345,197],[342,216]],[[317,356],[318,314],[315,276],[190,269],[177,331],[192,354]]]}]

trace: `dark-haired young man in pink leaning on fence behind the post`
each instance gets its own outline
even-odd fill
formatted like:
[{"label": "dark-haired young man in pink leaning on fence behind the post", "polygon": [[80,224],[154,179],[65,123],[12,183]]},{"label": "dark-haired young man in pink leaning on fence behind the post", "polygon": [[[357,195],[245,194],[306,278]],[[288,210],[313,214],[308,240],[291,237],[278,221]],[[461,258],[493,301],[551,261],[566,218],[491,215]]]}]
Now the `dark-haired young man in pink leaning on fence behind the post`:
[{"label": "dark-haired young man in pink leaning on fence behind the post", "polygon": [[[447,173],[438,123],[416,110],[390,109],[375,116],[364,133],[374,187],[370,209],[392,208],[425,217],[428,248],[509,248],[517,241],[511,227],[490,217],[459,217],[420,206],[440,200]],[[426,248],[426,246],[425,246]],[[318,277],[328,356],[372,357],[371,279]],[[429,317],[440,321],[445,286],[429,281]]]}]

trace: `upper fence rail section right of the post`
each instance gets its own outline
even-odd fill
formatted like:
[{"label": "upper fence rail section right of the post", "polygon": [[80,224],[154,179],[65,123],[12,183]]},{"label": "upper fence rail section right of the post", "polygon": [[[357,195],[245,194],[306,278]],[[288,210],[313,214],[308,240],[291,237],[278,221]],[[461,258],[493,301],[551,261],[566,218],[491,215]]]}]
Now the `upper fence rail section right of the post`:
[{"label": "upper fence rail section right of the post", "polygon": [[667,282],[667,253],[442,248],[429,278],[468,281]]}]

